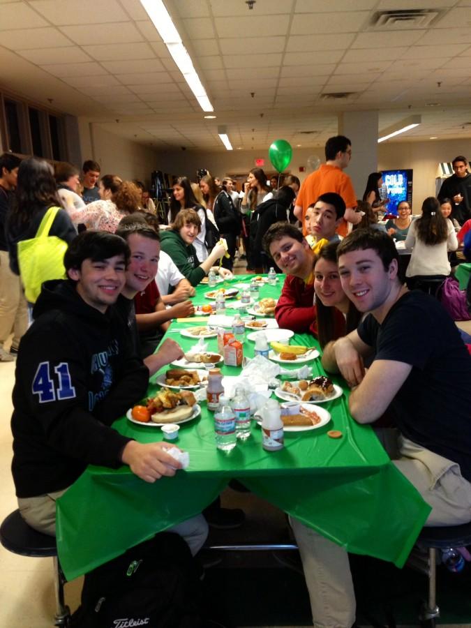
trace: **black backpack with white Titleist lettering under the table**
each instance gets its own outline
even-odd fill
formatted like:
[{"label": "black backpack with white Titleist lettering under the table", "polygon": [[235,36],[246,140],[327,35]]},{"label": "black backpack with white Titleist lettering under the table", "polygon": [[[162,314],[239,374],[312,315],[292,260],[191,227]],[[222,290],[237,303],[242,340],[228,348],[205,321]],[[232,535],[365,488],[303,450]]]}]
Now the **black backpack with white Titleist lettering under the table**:
[{"label": "black backpack with white Titleist lettering under the table", "polygon": [[162,532],[85,576],[69,628],[197,628],[200,599],[188,545]]}]

